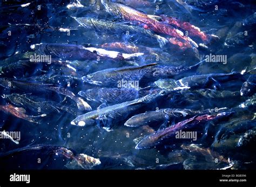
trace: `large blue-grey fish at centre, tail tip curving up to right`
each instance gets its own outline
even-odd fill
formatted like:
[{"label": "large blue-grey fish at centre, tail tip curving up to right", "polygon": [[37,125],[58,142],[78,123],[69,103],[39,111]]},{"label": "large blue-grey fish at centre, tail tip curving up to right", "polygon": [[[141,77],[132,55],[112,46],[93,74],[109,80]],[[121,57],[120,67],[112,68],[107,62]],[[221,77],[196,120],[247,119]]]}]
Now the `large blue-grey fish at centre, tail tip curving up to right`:
[{"label": "large blue-grey fish at centre, tail tip curving up to right", "polygon": [[[204,61],[204,60],[203,60]],[[102,71],[98,71],[92,74],[84,76],[82,79],[85,82],[95,85],[101,85],[106,87],[119,87],[118,83],[122,81],[152,81],[160,78],[172,78],[175,75],[193,71],[203,61],[200,61],[193,66],[158,66],[156,63],[137,66],[137,67],[120,67],[110,68]],[[127,82],[129,83],[129,82]]]}]

